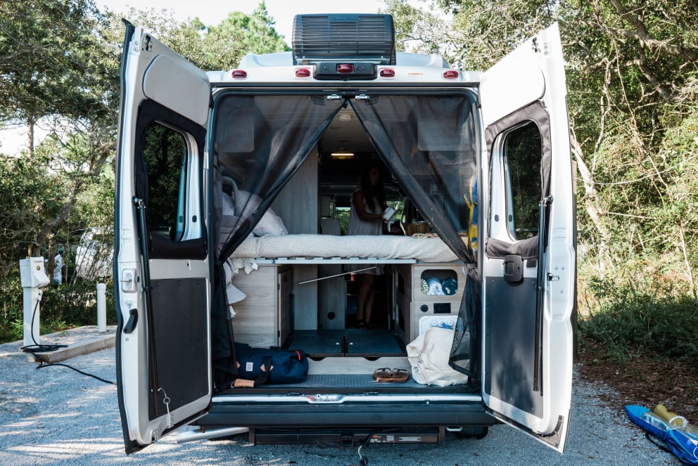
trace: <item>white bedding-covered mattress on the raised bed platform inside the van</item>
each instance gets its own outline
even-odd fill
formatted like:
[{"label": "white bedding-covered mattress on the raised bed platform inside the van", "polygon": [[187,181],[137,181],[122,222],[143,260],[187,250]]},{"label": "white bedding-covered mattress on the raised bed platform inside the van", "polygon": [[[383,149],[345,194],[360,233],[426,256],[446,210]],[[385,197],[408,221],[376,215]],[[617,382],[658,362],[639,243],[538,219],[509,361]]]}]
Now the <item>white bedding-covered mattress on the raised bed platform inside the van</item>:
[{"label": "white bedding-covered mattress on the raised bed platform inside the van", "polygon": [[417,259],[450,262],[458,258],[440,238],[412,236],[280,235],[250,237],[232,257],[276,259],[279,257],[326,257],[363,259]]}]

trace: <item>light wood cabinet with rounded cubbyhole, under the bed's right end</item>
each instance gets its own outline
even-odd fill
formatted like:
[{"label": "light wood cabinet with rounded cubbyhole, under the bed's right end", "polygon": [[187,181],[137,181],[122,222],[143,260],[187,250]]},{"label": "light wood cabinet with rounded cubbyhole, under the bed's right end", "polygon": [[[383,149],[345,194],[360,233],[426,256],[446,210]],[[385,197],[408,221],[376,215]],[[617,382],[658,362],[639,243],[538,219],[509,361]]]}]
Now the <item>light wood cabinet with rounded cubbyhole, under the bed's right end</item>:
[{"label": "light wood cabinet with rounded cubbyhole, under the bed's right end", "polygon": [[[419,335],[421,318],[430,317],[429,323],[438,325],[446,320],[446,316],[458,315],[465,278],[461,264],[405,264],[395,268],[395,306],[398,328],[402,330],[405,342],[411,342]],[[452,295],[430,295],[429,285],[426,293],[423,291],[422,280],[431,281],[431,292],[436,292],[439,287],[442,290],[448,287],[450,292],[455,283],[455,292]],[[439,286],[436,286],[437,282]]]}]

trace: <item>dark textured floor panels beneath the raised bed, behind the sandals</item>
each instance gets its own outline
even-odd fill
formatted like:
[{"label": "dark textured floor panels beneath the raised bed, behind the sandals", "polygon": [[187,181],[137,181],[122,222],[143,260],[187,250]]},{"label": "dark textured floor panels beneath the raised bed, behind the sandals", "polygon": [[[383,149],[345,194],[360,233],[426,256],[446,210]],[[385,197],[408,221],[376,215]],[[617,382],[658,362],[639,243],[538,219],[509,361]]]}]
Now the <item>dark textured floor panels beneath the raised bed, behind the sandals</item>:
[{"label": "dark textured floor panels beneath the raised bed, behind the sandals", "polygon": [[300,349],[309,358],[406,356],[402,339],[387,329],[296,330],[288,349]]}]

